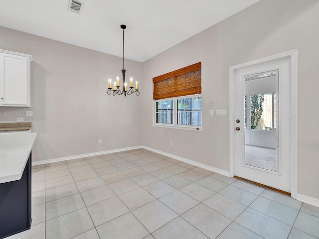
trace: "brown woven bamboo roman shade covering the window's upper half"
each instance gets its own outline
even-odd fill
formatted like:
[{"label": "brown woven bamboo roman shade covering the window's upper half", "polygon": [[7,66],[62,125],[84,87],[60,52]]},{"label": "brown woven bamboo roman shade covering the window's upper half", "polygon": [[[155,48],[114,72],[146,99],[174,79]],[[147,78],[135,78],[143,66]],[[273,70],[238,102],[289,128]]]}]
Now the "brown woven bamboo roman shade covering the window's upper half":
[{"label": "brown woven bamboo roman shade covering the window's upper half", "polygon": [[153,99],[201,93],[201,62],[153,78]]}]

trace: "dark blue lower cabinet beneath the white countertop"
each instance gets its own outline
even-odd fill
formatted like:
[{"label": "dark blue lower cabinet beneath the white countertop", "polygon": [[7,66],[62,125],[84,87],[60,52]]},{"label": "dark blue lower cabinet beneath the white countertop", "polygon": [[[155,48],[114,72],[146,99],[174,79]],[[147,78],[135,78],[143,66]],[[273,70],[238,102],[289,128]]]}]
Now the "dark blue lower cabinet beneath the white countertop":
[{"label": "dark blue lower cabinet beneath the white countertop", "polygon": [[0,239],[31,227],[31,153],[20,180],[0,184]]}]

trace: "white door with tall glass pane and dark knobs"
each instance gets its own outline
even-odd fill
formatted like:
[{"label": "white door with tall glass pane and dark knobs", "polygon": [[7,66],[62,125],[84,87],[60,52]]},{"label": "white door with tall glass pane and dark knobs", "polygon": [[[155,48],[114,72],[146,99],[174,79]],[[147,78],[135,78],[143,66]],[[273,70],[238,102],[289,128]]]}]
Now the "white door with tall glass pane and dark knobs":
[{"label": "white door with tall glass pane and dark knobs", "polygon": [[237,69],[233,84],[233,174],[291,192],[290,58]]}]

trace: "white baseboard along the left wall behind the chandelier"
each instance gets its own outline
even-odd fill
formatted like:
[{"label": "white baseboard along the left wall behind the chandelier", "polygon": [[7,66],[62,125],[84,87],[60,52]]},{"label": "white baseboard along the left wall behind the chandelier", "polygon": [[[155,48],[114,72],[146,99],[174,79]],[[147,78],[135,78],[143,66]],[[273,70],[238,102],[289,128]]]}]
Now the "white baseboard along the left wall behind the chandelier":
[{"label": "white baseboard along the left wall behind the chandelier", "polygon": [[55,162],[60,162],[60,161],[65,161],[65,160],[76,159],[76,158],[91,157],[91,156],[107,154],[107,153],[117,153],[117,152],[122,152],[122,151],[127,151],[127,150],[132,150],[132,149],[139,149],[139,148],[143,148],[143,146],[140,145],[140,146],[133,146],[133,147],[128,147],[128,148],[111,149],[111,150],[94,152],[94,153],[84,153],[84,154],[66,156],[66,157],[61,157],[61,158],[52,158],[52,159],[41,160],[41,161],[32,161],[32,165],[35,166],[35,165],[46,164],[46,163],[55,163]]}]

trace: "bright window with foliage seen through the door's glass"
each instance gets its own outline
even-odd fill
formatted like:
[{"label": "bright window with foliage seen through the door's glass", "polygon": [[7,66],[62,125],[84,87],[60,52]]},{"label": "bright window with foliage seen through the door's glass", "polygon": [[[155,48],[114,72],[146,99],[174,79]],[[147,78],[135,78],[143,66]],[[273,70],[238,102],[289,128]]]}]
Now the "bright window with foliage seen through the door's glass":
[{"label": "bright window with foliage seen through the door's glass", "polygon": [[[250,98],[250,106],[247,108],[247,99]],[[247,116],[250,116],[250,129],[276,130],[276,93],[265,93],[245,96],[245,127]],[[247,112],[250,113],[247,115]]]}]

